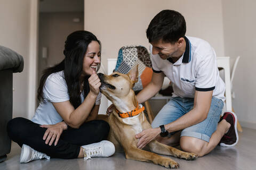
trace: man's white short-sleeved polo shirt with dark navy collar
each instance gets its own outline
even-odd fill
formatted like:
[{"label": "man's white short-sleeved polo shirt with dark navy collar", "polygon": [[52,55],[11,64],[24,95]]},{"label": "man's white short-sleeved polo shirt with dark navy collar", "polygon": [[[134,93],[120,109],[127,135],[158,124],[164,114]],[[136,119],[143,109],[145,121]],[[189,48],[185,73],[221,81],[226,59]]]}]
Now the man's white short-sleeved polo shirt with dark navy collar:
[{"label": "man's white short-sleeved polo shirt with dark navy collar", "polygon": [[211,91],[213,96],[225,101],[225,83],[219,76],[216,54],[205,40],[185,37],[185,53],[175,63],[172,58],[163,60],[158,54],[150,57],[153,71],[163,72],[173,83],[172,97],[194,98],[195,90]]}]

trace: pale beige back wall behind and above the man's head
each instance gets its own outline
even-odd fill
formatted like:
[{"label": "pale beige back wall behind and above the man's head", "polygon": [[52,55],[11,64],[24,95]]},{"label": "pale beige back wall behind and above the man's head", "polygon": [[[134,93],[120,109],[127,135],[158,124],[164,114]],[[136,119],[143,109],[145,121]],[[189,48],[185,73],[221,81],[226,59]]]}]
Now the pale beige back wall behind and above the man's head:
[{"label": "pale beige back wall behind and above the man's head", "polygon": [[[179,11],[187,22],[188,36],[209,41],[218,56],[224,55],[221,0],[85,0],[85,30],[93,32],[102,43],[102,64],[117,58],[125,45],[149,47],[146,29],[161,10]],[[101,108],[107,108],[104,99]],[[100,109],[102,113],[102,109]]]}]

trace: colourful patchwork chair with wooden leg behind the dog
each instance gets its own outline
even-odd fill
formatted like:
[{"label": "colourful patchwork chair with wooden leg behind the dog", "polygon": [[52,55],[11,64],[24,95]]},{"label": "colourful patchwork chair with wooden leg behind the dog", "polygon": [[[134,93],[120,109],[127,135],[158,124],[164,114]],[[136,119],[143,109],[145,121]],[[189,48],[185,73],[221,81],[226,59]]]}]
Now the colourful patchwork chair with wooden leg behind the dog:
[{"label": "colourful patchwork chair with wooden leg behind the dog", "polygon": [[[127,74],[132,67],[138,64],[139,79],[134,84],[133,90],[137,94],[151,81],[153,70],[148,50],[143,46],[124,46],[119,49],[115,71]],[[149,122],[153,122],[153,112],[148,101],[145,107]]]}]

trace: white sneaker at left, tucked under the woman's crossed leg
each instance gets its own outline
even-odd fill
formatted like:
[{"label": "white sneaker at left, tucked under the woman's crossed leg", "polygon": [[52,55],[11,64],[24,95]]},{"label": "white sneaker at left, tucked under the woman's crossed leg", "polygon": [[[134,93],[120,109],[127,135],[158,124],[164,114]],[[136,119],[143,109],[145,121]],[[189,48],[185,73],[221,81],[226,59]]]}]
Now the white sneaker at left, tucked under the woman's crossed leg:
[{"label": "white sneaker at left, tucked under the woman's crossed leg", "polygon": [[50,156],[36,151],[35,149],[23,144],[20,153],[20,163],[28,163],[37,159],[50,159]]}]

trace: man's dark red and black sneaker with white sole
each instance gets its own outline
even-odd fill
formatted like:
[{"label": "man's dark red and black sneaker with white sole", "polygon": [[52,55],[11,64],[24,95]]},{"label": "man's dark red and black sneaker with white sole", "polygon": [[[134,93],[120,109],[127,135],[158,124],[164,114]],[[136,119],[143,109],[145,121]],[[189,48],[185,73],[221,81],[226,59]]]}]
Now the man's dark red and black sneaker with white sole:
[{"label": "man's dark red and black sneaker with white sole", "polygon": [[227,133],[220,140],[220,146],[233,147],[238,142],[237,116],[234,112],[225,112],[220,121],[225,119],[231,126]]}]

